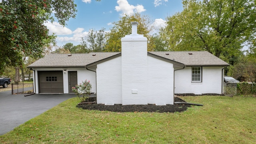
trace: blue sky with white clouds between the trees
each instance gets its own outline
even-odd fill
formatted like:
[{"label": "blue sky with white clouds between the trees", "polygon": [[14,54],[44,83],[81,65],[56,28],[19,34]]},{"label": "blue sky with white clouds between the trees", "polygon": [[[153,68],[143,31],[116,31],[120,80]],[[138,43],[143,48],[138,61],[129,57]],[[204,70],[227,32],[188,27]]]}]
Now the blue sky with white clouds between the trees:
[{"label": "blue sky with white clouds between the trees", "polygon": [[120,20],[123,14],[139,12],[149,16],[156,27],[164,26],[167,16],[183,10],[182,0],[75,0],[77,14],[70,19],[67,26],[61,26],[57,21],[47,22],[50,34],[57,35],[58,46],[71,42],[80,44],[81,37],[86,36],[90,29],[100,30],[112,27],[112,22]]}]

